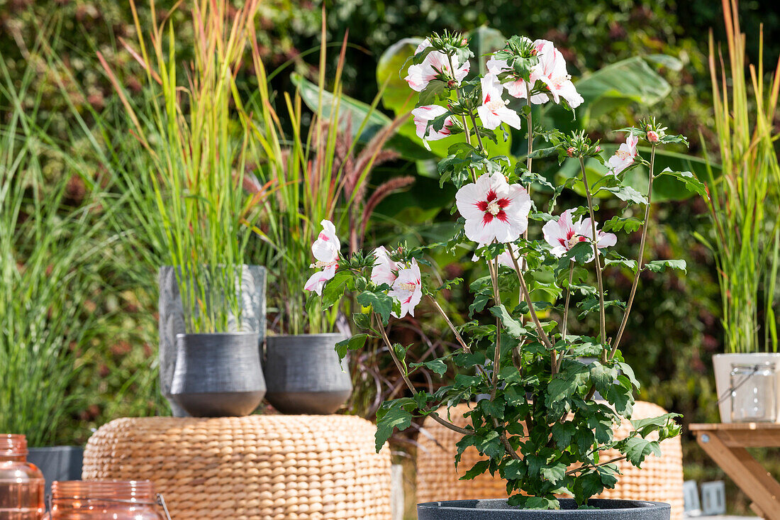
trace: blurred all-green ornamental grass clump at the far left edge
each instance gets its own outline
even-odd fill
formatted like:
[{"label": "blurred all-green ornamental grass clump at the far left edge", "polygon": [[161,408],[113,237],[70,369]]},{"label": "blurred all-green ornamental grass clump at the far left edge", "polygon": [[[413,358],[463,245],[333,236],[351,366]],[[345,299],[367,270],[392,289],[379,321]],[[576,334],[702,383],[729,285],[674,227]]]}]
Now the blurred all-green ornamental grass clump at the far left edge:
[{"label": "blurred all-green ornamental grass clump at the far left edge", "polygon": [[36,75],[30,66],[15,84],[0,62],[0,432],[42,446],[83,402],[73,383],[101,331],[90,309],[112,239],[99,191],[69,198],[79,165],[36,126]]}]

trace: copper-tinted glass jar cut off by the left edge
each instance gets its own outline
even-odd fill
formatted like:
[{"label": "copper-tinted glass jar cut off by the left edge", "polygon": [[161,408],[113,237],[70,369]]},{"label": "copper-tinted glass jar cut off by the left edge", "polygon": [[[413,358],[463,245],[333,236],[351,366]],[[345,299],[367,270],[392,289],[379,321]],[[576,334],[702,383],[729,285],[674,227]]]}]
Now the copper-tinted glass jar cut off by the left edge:
[{"label": "copper-tinted glass jar cut off by the left edge", "polygon": [[0,435],[0,518],[41,520],[44,515],[44,475],[27,462],[23,435]]}]

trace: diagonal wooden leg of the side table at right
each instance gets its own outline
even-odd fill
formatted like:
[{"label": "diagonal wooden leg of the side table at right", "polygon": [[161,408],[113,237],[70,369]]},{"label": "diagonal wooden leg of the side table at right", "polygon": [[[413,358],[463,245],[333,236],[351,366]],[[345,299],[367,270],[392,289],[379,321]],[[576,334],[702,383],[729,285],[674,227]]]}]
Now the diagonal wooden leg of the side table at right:
[{"label": "diagonal wooden leg of the side table at right", "polygon": [[745,448],[728,447],[714,432],[697,432],[697,441],[767,520],[780,520],[780,483]]}]

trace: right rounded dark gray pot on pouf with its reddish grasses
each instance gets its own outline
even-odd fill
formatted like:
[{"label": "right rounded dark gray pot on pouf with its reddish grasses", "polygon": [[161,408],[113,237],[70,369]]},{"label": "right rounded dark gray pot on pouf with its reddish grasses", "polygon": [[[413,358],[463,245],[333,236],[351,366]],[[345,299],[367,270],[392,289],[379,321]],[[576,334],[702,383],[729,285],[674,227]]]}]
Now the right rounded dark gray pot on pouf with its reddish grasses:
[{"label": "right rounded dark gray pot on pouf with its reddish grasses", "polygon": [[[325,41],[323,27],[322,41]],[[270,103],[253,106],[254,118],[246,124],[254,134],[250,144],[257,146],[253,155],[262,157],[258,169],[261,182],[274,186],[268,198],[263,219],[253,230],[267,244],[272,244],[264,257],[269,270],[273,302],[271,312],[276,334],[266,339],[264,371],[267,401],[287,414],[331,414],[342,407],[352,393],[352,379],[346,362],[335,354],[335,344],[349,337],[346,320],[339,320],[340,308],[323,306],[300,291],[306,285],[312,290],[321,287],[321,275],[311,275],[310,247],[321,233],[320,223],[335,220],[340,229],[348,230],[350,248],[357,248],[366,230],[372,209],[382,198],[410,183],[409,178],[381,184],[367,197],[371,169],[395,158],[395,152],[383,150],[389,137],[395,134],[400,118],[378,131],[365,144],[360,144],[363,128],[371,122],[372,110],[362,117],[339,109],[341,72],[346,53],[346,41],[333,79],[333,93],[325,90],[325,50],[321,46],[318,84],[310,84],[293,74],[299,89],[293,98],[287,97],[287,116],[293,123],[292,133],[285,130]],[[254,72],[260,85],[259,98],[268,98],[268,82],[257,48],[254,49]],[[319,106],[309,124],[302,130],[302,97],[318,100]],[[368,107],[367,107],[368,108]],[[356,133],[353,134],[353,130]],[[361,149],[359,150],[359,147]],[[349,212],[335,219],[338,205]],[[329,237],[335,237],[335,227]],[[338,239],[335,239],[338,240]],[[324,272],[335,264],[321,263],[340,244],[332,242],[317,251],[314,262]]]}]

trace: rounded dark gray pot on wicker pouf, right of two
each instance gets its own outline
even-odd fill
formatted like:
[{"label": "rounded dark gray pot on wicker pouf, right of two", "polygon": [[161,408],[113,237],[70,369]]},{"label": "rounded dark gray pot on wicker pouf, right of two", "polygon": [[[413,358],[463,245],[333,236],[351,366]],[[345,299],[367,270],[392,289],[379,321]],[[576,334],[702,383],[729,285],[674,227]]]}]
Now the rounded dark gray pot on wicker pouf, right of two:
[{"label": "rounded dark gray pot on wicker pouf, right of two", "polygon": [[270,336],[264,360],[266,400],[283,414],[335,413],[352,394],[346,359],[335,344],[343,334]]}]

